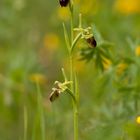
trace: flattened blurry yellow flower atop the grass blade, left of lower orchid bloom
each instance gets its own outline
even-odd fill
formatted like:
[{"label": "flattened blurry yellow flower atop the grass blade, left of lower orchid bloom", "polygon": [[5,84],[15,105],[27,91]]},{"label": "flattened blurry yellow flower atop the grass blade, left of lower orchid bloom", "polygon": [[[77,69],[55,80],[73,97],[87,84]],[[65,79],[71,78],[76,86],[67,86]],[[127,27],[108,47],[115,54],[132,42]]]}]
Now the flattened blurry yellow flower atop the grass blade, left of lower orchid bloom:
[{"label": "flattened blurry yellow flower atop the grass blade, left of lower orchid bloom", "polygon": [[47,81],[46,77],[40,73],[31,74],[29,79],[31,82],[38,83],[38,84],[46,84],[46,81]]}]

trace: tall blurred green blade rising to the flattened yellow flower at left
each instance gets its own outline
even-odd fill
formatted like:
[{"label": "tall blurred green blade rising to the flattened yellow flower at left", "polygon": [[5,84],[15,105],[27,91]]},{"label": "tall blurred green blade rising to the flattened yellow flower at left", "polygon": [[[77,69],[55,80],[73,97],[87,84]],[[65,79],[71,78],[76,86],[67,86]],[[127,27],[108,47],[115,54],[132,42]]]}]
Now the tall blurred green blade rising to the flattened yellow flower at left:
[{"label": "tall blurred green blade rising to the flattened yellow flower at left", "polygon": [[44,119],[44,111],[43,111],[43,100],[42,95],[39,87],[38,81],[36,82],[37,86],[37,100],[38,100],[38,113],[40,119],[40,127],[41,127],[41,140],[45,140],[45,119]]}]

